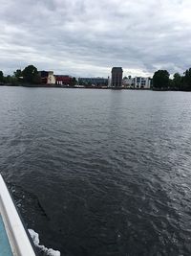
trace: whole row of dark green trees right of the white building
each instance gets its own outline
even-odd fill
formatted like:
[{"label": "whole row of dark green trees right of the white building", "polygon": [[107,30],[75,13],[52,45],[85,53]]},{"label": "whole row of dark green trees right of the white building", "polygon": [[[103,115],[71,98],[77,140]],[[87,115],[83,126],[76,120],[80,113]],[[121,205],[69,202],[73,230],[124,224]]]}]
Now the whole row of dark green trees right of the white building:
[{"label": "whole row of dark green trees right of the white building", "polygon": [[153,89],[191,91],[191,68],[183,75],[175,73],[173,79],[167,70],[158,70],[153,76]]}]

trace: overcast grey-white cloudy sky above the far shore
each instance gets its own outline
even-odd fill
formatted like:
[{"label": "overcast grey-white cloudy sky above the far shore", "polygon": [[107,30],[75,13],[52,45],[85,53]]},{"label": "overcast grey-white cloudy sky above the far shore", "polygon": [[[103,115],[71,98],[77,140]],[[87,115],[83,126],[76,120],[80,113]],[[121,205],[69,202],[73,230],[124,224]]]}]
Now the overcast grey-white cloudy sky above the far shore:
[{"label": "overcast grey-white cloudy sky above the far shore", "polygon": [[190,0],[1,0],[0,70],[76,77],[191,67]]}]

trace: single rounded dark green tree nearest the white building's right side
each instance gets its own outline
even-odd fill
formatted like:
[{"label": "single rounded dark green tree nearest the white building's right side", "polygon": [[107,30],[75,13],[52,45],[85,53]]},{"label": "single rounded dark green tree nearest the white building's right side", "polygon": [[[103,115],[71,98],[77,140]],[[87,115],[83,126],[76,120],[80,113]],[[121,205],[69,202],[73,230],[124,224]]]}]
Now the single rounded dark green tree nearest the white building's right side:
[{"label": "single rounded dark green tree nearest the white building's right side", "polygon": [[169,76],[167,70],[158,70],[153,76],[153,86],[154,88],[163,89],[167,88],[169,85]]}]

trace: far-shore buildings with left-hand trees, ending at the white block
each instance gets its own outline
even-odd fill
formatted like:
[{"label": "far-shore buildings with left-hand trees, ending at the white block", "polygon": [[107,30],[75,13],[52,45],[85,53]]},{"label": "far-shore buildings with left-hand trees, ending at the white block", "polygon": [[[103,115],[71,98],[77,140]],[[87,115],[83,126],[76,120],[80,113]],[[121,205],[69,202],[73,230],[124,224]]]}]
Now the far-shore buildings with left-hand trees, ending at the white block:
[{"label": "far-shore buildings with left-hand trees, ending at the white block", "polygon": [[150,89],[152,85],[151,78],[143,77],[124,77],[121,67],[113,67],[111,77],[108,78],[74,78],[69,75],[55,75],[53,71],[37,71],[37,69],[29,65],[23,71],[16,70],[14,76],[4,78],[0,76],[2,84],[23,84],[56,86],[56,87],[75,87],[75,88],[137,88]]}]

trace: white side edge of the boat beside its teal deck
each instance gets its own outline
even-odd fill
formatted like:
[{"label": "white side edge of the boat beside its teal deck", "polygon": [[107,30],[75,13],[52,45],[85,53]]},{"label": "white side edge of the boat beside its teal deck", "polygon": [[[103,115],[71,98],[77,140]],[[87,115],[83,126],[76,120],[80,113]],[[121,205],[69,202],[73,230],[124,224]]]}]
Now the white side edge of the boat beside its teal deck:
[{"label": "white side edge of the boat beside its teal deck", "polygon": [[13,256],[36,256],[17,213],[3,177],[0,175],[0,214],[4,221]]}]

